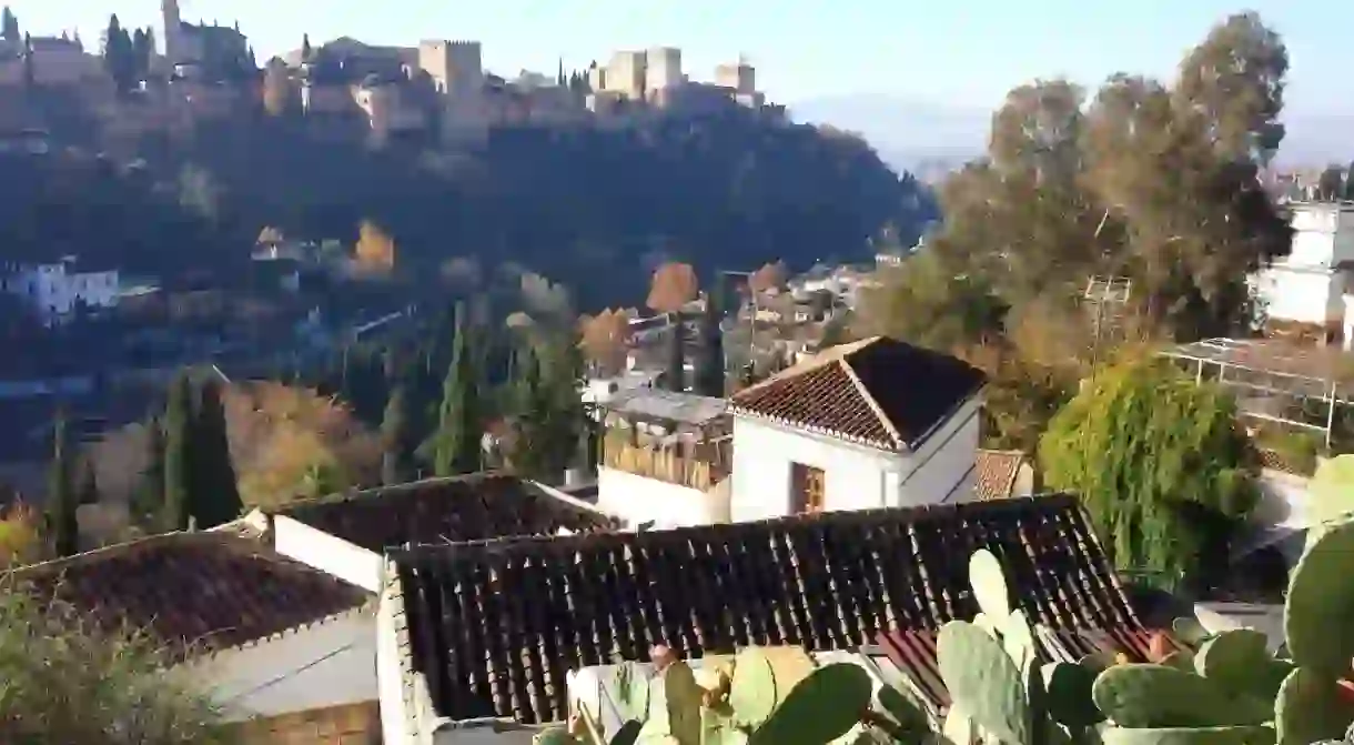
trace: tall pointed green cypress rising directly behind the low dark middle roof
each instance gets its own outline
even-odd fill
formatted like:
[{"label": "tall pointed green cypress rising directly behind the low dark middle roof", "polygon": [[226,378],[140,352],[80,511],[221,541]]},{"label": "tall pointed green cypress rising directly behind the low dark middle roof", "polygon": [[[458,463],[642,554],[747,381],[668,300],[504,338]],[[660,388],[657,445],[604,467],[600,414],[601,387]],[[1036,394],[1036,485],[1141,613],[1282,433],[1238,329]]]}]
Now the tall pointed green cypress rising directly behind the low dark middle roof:
[{"label": "tall pointed green cypress rising directly behind the low dark middle roof", "polygon": [[479,470],[483,421],[479,416],[479,379],[470,348],[464,306],[456,305],[456,337],[441,386],[433,473],[455,475]]}]

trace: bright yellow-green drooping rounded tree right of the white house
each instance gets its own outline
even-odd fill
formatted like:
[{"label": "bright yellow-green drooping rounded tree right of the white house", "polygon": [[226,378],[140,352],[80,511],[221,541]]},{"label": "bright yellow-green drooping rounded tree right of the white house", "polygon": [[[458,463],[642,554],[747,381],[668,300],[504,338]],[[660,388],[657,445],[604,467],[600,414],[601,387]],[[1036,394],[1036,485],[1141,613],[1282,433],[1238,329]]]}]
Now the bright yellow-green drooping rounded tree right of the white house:
[{"label": "bright yellow-green drooping rounded tree right of the white house", "polygon": [[1049,423],[1039,461],[1080,494],[1116,566],[1206,585],[1257,500],[1257,456],[1220,386],[1132,355],[1090,378]]}]

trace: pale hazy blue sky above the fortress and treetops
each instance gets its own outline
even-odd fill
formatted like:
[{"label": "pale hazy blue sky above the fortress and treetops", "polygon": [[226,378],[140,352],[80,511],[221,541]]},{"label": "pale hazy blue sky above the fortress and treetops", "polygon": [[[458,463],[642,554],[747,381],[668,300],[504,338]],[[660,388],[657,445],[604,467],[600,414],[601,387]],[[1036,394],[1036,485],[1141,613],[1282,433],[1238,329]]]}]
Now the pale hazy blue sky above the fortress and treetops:
[{"label": "pale hazy blue sky above the fortress and treetops", "polygon": [[[3,0],[0,0],[3,1]],[[110,12],[158,20],[158,0],[9,0],[26,30],[79,27],[97,42]],[[500,74],[604,61],[612,49],[680,46],[695,79],[743,53],[781,102],[891,93],[995,106],[1010,87],[1067,74],[1097,83],[1127,69],[1169,76],[1209,26],[1243,5],[1223,0],[180,0],[185,20],[238,19],[260,61],[352,35],[376,43],[479,39]],[[1354,111],[1354,3],[1252,0],[1284,34],[1292,108]]]}]

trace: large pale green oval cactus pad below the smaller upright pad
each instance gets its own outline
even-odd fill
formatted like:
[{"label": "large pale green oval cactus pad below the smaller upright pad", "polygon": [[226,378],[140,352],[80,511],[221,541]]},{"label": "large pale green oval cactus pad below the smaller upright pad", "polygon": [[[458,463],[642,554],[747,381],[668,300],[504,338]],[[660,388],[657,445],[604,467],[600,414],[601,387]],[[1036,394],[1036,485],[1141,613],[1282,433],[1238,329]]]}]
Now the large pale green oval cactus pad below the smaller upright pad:
[{"label": "large pale green oval cactus pad below the smaller upright pad", "polygon": [[971,623],[952,620],[940,630],[936,654],[951,698],[963,703],[975,725],[1002,742],[1029,742],[1022,673],[1001,642]]}]

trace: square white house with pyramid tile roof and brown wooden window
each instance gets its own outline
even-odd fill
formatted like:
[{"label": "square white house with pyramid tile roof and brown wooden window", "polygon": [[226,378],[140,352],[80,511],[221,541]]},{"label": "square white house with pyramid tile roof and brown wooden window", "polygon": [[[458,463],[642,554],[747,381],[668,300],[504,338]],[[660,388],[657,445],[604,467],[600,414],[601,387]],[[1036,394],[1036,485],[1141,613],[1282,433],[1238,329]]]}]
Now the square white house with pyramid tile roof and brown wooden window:
[{"label": "square white house with pyramid tile roof and brown wooden window", "polygon": [[826,349],[731,401],[731,517],[972,497],[983,372],[873,337]]}]

